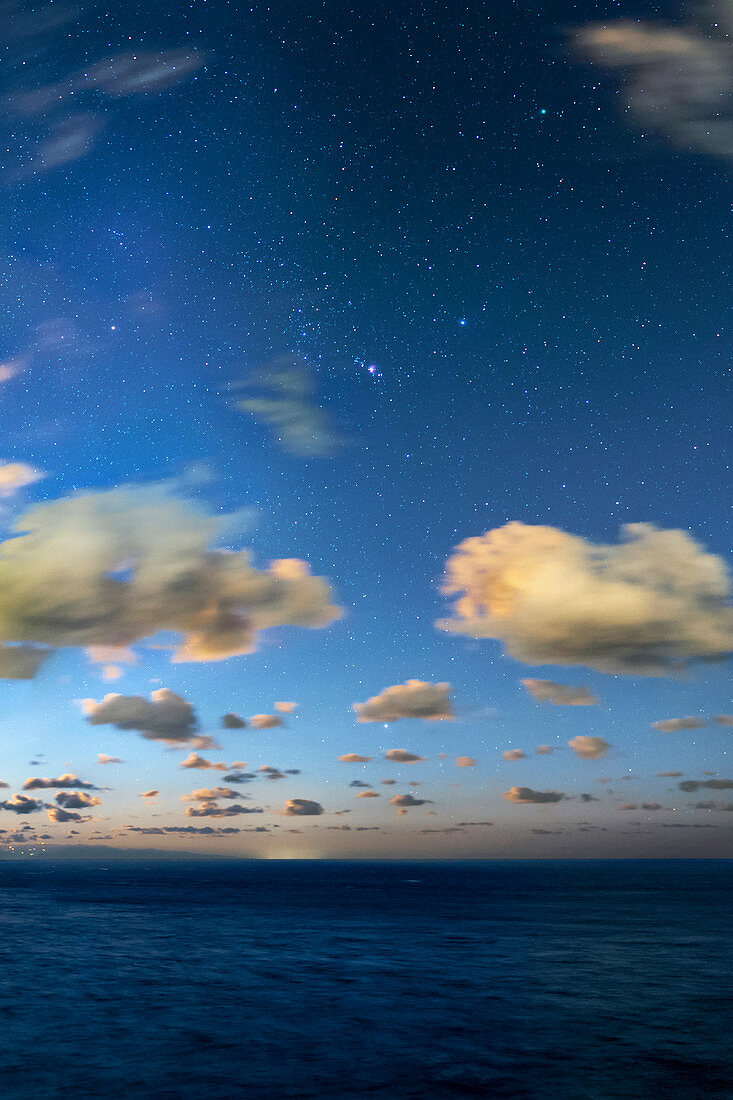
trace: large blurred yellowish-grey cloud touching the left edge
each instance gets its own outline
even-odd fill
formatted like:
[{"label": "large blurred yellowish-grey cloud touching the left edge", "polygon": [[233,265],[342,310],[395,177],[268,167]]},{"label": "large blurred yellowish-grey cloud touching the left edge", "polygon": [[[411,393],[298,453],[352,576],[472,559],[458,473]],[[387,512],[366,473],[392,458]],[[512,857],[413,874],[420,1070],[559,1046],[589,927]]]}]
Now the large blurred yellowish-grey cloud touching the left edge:
[{"label": "large blurred yellowish-grey cloud touching the left edge", "polygon": [[171,630],[174,661],[209,661],[252,652],[261,630],[340,615],[305,562],[261,571],[244,550],[210,549],[223,520],[171,485],[64,497],[15,527],[0,543],[0,646],[127,647]]}]

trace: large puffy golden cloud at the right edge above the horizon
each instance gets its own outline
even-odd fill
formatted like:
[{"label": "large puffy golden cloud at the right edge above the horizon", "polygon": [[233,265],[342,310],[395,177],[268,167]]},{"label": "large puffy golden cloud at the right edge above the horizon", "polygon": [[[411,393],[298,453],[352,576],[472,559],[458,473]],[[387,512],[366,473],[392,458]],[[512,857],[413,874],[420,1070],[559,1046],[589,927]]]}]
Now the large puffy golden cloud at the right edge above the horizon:
[{"label": "large puffy golden cloud at the right edge above the horizon", "polygon": [[630,524],[621,546],[521,522],[466,539],[446,565],[453,617],[437,625],[497,638],[532,664],[668,675],[733,648],[723,560],[687,531]]}]

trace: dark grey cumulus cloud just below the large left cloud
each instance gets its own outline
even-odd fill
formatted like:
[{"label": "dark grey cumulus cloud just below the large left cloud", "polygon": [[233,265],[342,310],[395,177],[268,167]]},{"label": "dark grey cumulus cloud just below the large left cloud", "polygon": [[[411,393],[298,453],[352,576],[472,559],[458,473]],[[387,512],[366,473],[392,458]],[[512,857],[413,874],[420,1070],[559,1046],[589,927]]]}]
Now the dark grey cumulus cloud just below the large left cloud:
[{"label": "dark grey cumulus cloud just below the large left cloud", "polygon": [[112,694],[105,695],[101,703],[85,698],[83,706],[90,725],[138,729],[149,740],[176,745],[192,740],[196,734],[194,707],[167,688],[152,692],[151,702],[142,695]]}]

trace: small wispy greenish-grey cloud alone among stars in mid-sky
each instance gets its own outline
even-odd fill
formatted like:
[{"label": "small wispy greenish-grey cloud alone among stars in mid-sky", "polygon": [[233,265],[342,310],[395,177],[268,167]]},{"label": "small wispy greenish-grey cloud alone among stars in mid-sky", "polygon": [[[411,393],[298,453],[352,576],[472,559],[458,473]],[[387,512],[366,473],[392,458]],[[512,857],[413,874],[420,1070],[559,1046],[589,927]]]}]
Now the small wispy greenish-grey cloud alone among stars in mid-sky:
[{"label": "small wispy greenish-grey cloud alone among stars in mid-sky", "polygon": [[311,402],[315,391],[311,378],[296,360],[276,359],[270,370],[258,372],[244,385],[272,395],[245,397],[237,402],[237,408],[266,425],[284,451],[304,459],[319,458],[332,454],[340,447],[341,440],[329,417]]}]

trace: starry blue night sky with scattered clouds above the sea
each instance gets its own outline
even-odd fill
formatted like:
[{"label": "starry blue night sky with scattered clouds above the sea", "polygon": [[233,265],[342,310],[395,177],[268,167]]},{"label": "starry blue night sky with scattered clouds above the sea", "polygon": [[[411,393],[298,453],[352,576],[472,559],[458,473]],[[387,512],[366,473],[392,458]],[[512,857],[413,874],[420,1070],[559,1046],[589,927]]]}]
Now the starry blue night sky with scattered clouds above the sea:
[{"label": "starry blue night sky with scattered clouds above the sea", "polygon": [[1,0],[6,851],[730,854],[731,28]]}]

